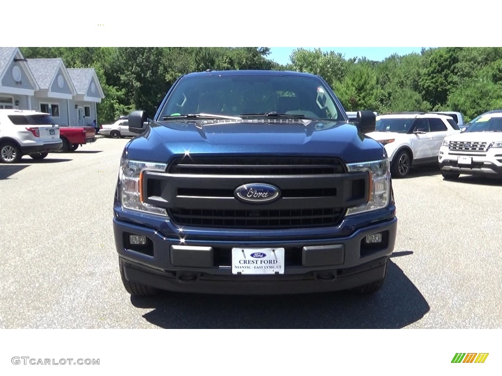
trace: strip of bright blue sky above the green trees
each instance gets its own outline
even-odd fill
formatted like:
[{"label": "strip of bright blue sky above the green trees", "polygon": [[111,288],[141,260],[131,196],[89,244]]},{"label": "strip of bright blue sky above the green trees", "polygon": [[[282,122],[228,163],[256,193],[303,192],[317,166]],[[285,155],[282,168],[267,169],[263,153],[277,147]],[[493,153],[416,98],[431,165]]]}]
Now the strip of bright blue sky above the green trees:
[{"label": "strip of bright blue sky above the green trees", "polygon": [[[279,64],[288,64],[291,53],[300,47],[271,47],[269,59],[276,61]],[[303,47],[313,50],[314,47]],[[413,52],[420,53],[422,47],[321,47],[322,51],[335,51],[345,56],[345,59],[353,57],[366,57],[369,60],[382,61],[385,58],[393,55],[408,55]]]}]

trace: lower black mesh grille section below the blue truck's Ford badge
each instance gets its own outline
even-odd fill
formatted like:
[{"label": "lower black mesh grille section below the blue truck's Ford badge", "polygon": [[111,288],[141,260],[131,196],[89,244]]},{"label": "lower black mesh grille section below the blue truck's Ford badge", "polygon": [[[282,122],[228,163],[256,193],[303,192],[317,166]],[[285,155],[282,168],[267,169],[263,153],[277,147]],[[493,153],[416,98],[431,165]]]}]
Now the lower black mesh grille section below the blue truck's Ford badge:
[{"label": "lower black mesh grille section below the blue truck's Ford badge", "polygon": [[337,224],[344,209],[199,210],[172,208],[169,217],[179,226],[240,229],[323,227]]}]

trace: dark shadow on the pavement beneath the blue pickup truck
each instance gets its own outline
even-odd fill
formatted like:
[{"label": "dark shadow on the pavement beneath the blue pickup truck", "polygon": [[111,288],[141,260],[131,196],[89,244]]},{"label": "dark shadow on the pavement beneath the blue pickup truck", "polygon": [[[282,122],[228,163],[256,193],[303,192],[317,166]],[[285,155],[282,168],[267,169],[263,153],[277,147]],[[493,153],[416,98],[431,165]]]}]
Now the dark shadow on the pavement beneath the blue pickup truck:
[{"label": "dark shadow on the pavement beneath the blue pickup truck", "polygon": [[403,271],[389,261],[387,279],[373,295],[351,292],[234,296],[166,292],[131,298],[143,317],[162,328],[375,328],[394,329],[420,320],[430,307]]}]

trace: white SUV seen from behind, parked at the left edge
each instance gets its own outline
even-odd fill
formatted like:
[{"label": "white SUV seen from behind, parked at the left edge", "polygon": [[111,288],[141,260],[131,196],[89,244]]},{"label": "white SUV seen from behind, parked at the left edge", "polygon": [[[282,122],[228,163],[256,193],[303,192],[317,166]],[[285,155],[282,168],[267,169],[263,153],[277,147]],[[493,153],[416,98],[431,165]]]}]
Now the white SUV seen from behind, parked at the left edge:
[{"label": "white SUV seen from behind, parked at the left edge", "polygon": [[62,144],[59,126],[49,114],[0,109],[0,162],[16,163],[25,154],[43,159]]}]

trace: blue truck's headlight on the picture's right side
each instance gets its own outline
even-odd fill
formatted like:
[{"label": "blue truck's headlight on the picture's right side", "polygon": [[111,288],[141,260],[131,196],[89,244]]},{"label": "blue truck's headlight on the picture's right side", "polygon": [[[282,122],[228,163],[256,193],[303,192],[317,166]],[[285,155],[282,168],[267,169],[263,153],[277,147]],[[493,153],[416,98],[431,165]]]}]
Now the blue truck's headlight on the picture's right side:
[{"label": "blue truck's headlight on the picture's right side", "polygon": [[382,209],[389,205],[391,186],[391,168],[389,159],[365,163],[351,163],[347,164],[347,167],[349,172],[368,171],[370,184],[370,196],[367,204],[354,208],[348,208],[347,216]]}]

